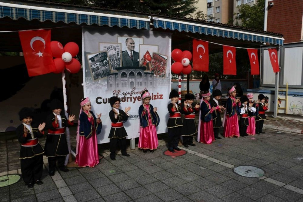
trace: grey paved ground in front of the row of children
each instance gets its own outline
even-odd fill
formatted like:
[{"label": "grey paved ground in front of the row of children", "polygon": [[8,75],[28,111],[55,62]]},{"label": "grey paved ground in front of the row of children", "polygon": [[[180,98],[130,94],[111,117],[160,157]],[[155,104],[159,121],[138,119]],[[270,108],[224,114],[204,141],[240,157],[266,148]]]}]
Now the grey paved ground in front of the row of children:
[{"label": "grey paved ground in front of the row of children", "polygon": [[[181,157],[158,150],[130,157],[106,156],[95,168],[70,168],[28,189],[24,182],[0,187],[0,201],[303,201],[303,136],[265,130],[254,137],[223,138],[189,146]],[[185,149],[185,148],[184,148]],[[0,144],[0,176],[20,173],[17,141]],[[261,168],[259,178],[233,172],[240,165]]]}]

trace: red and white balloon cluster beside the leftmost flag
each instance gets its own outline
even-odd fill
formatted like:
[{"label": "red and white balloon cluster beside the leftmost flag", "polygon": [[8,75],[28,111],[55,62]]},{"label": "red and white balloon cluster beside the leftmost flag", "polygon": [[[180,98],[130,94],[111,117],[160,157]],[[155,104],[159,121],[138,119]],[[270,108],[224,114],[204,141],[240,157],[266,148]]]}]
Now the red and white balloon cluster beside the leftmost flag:
[{"label": "red and white balloon cluster beside the leftmost flag", "polygon": [[61,73],[64,68],[72,74],[78,73],[81,69],[80,62],[73,57],[79,52],[79,46],[75,42],[68,42],[63,47],[58,41],[51,41],[51,50],[56,70],[54,73]]}]

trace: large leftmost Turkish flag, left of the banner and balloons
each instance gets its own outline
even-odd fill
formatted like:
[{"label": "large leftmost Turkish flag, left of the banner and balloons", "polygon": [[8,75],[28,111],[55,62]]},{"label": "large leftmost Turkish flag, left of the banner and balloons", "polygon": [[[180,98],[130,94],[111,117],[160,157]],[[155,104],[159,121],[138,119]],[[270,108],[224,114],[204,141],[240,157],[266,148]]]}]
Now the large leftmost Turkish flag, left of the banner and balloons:
[{"label": "large leftmost Turkish flag, left of the banner and balloons", "polygon": [[51,30],[19,31],[28,76],[56,70],[51,51]]}]

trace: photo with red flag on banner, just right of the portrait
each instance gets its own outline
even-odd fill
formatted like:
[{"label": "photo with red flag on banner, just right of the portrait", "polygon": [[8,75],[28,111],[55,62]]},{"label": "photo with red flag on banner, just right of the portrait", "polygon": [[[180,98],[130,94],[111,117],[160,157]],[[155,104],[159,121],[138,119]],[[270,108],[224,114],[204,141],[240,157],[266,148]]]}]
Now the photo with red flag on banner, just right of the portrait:
[{"label": "photo with red flag on banner, just right of the portrait", "polygon": [[157,45],[140,44],[140,66],[145,67],[145,71],[151,71],[152,53],[158,53]]}]

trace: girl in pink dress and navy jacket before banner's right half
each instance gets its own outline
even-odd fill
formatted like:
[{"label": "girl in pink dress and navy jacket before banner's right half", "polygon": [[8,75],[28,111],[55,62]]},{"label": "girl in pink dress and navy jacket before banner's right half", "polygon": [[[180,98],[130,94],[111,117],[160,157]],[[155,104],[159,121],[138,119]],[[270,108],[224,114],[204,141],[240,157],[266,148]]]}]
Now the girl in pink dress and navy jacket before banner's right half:
[{"label": "girl in pink dress and navy jacket before banner's right half", "polygon": [[138,148],[142,149],[144,153],[154,152],[158,147],[156,126],[159,125],[160,118],[157,114],[157,108],[149,104],[151,95],[148,90],[143,91],[141,97],[143,104],[139,107],[141,127]]}]

